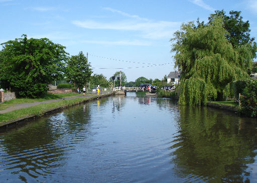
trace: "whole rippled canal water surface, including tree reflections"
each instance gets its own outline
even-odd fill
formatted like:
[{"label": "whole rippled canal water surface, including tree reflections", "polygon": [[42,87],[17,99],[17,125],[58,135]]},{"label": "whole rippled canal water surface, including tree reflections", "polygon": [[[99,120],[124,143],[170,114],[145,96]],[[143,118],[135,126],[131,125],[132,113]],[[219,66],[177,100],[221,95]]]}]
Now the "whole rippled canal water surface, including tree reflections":
[{"label": "whole rippled canal water surface, including tree reflections", "polygon": [[127,93],[0,133],[0,182],[256,182],[256,119]]}]

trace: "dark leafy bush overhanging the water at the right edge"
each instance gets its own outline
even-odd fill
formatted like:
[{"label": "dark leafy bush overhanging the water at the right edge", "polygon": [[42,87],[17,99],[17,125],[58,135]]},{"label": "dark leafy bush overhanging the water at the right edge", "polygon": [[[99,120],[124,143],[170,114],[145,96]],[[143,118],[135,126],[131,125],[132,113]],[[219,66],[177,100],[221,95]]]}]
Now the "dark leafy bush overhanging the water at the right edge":
[{"label": "dark leafy bush overhanging the water at the right edge", "polygon": [[257,117],[257,81],[246,81],[242,94],[239,111],[247,116]]}]

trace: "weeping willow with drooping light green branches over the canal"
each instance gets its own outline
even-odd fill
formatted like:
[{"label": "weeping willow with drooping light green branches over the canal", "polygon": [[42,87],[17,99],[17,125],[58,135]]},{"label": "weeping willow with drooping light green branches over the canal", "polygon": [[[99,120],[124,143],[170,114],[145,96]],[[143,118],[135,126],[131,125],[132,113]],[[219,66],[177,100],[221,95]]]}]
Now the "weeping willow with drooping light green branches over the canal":
[{"label": "weeping willow with drooping light green branches over the canal", "polygon": [[250,43],[233,48],[226,39],[222,19],[196,27],[193,22],[182,24],[171,39],[175,67],[179,67],[179,104],[206,105],[231,93],[231,83],[247,79],[252,67]]}]

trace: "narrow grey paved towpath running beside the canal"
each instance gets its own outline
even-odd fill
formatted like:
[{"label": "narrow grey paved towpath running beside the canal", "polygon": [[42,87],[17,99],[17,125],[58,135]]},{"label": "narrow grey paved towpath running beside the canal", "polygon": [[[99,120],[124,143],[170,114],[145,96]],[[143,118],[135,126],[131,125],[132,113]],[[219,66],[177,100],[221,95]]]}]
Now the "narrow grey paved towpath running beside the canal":
[{"label": "narrow grey paved towpath running beside the canal", "polygon": [[[108,92],[102,92],[100,95],[107,94],[107,93]],[[80,98],[80,97],[90,98],[90,97],[94,97],[94,96],[97,96],[97,94],[89,94],[89,95],[85,95],[85,96],[83,96],[81,94],[80,96],[63,97],[63,98],[60,98],[60,99],[45,100],[45,101],[42,101],[42,102],[30,102],[30,103],[14,104],[14,105],[10,105],[5,110],[0,110],[0,114],[11,112],[11,111],[14,111],[14,110],[17,110],[17,109],[28,108],[28,107],[35,106],[35,105],[38,105],[38,104],[46,104],[46,103],[51,103],[51,102],[57,102],[57,101],[60,101],[60,100],[69,100],[69,99]]]}]

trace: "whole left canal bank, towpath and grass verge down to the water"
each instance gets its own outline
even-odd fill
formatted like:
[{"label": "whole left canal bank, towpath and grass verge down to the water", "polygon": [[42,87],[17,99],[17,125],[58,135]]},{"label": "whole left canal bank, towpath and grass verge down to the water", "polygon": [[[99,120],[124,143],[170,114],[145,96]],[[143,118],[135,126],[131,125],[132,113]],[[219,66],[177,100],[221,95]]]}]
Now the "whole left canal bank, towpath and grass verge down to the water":
[{"label": "whole left canal bank, towpath and grass verge down to the water", "polygon": [[0,111],[0,128],[7,128],[16,126],[20,123],[38,119],[39,117],[54,112],[60,111],[64,108],[75,106],[91,100],[108,97],[114,92],[104,92],[99,95],[86,95],[65,97],[62,99],[47,100],[43,102],[23,103],[17,104],[13,107]]}]

